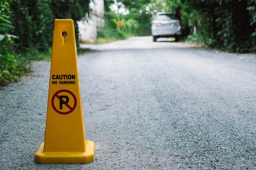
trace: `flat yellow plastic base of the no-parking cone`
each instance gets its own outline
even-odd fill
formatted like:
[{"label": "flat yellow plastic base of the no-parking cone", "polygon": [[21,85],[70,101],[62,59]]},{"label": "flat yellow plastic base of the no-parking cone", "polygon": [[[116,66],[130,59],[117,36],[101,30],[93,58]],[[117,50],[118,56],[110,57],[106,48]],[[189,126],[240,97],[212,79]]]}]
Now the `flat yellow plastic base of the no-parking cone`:
[{"label": "flat yellow plastic base of the no-parking cone", "polygon": [[42,143],[36,152],[35,162],[37,163],[90,163],[94,161],[93,141],[87,141],[86,152],[43,152],[44,144]]}]

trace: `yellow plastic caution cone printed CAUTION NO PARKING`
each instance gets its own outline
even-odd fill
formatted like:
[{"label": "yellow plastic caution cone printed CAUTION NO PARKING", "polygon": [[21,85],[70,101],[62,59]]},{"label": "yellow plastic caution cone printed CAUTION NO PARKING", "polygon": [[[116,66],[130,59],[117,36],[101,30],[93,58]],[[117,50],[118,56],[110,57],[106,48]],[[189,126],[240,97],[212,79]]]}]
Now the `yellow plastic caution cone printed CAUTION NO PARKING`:
[{"label": "yellow plastic caution cone printed CAUTION NO PARKING", "polygon": [[54,20],[45,142],[35,162],[89,163],[94,142],[86,139],[73,20]]}]

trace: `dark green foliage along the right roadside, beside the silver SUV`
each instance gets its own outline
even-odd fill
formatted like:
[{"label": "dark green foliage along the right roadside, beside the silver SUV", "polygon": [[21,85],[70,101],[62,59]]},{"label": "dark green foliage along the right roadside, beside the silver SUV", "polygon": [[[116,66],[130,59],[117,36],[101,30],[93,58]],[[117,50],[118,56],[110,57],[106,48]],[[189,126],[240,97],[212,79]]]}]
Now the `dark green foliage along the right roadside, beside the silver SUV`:
[{"label": "dark green foliage along the right roadside, beside the silver SUV", "polygon": [[182,0],[181,5],[185,33],[191,34],[196,26],[197,37],[203,36],[203,43],[211,47],[230,52],[256,50],[255,0]]}]

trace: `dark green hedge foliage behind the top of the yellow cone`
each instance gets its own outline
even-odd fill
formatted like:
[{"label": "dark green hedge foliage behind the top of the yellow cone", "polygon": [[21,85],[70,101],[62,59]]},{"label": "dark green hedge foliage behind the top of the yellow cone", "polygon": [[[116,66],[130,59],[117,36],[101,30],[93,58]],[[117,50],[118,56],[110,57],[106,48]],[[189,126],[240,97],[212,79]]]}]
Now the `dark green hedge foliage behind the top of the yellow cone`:
[{"label": "dark green hedge foliage behind the top of the yellow cone", "polygon": [[21,53],[33,50],[48,51],[52,46],[54,19],[73,19],[76,42],[78,41],[77,21],[89,16],[90,0],[10,0],[13,34]]}]

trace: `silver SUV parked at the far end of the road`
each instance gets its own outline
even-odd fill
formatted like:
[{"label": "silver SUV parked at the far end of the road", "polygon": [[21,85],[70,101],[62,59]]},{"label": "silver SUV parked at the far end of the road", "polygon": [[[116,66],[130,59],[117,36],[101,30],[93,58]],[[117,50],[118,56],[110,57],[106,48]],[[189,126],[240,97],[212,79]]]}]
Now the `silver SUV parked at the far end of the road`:
[{"label": "silver SUV parked at the far end of the road", "polygon": [[180,20],[175,18],[171,13],[158,12],[152,21],[153,42],[159,37],[174,37],[175,41],[179,41],[182,35]]}]

